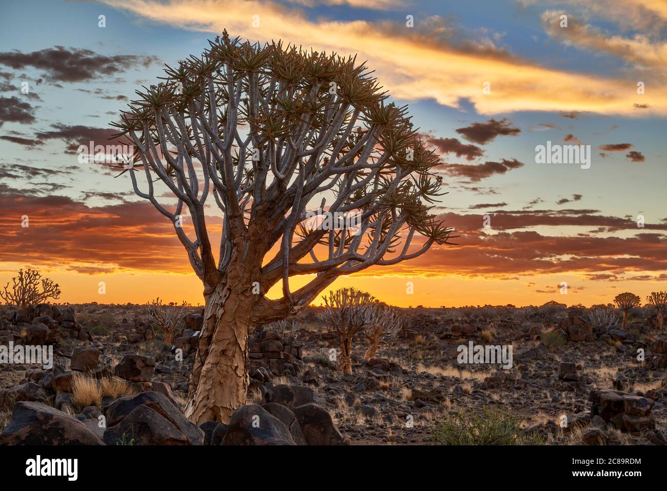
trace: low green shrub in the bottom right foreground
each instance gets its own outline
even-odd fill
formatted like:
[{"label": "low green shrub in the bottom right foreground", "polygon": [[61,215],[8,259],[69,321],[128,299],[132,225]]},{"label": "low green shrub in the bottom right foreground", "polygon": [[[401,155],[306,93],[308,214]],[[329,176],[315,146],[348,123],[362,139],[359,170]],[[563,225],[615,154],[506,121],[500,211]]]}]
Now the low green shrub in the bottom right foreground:
[{"label": "low green shrub in the bottom right foreground", "polygon": [[544,441],[524,434],[522,420],[504,410],[484,408],[483,414],[452,412],[436,428],[436,445],[538,445]]}]

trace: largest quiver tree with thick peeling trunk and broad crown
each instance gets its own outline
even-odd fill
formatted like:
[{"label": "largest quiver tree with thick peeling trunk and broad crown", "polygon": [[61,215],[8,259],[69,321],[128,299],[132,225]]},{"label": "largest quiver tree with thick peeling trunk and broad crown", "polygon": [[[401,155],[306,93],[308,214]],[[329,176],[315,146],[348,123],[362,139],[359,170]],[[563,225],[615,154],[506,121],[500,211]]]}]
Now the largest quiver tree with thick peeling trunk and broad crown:
[{"label": "largest quiver tree with thick peeling trunk and broad crown", "polygon": [[[228,422],[244,404],[249,325],[295,314],[336,278],[416,258],[452,233],[430,213],[442,194],[438,155],[363,63],[226,31],[209,45],[167,66],[114,123],[136,148],[123,173],[173,222],[203,283],[185,409],[197,424]],[[165,187],[175,204],[158,201]],[[307,227],[313,210],[356,213],[355,226]],[[301,288],[296,275],[309,275]],[[278,284],[280,298],[267,298]]]}]

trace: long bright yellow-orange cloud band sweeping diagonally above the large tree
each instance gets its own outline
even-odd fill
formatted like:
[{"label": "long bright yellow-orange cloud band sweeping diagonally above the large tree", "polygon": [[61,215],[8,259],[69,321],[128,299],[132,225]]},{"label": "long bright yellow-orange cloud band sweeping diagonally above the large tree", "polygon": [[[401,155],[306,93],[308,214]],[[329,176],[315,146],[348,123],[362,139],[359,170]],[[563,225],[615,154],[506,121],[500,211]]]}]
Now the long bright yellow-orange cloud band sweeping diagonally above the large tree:
[{"label": "long bright yellow-orange cloud band sweeping diagonally above the large tree", "polygon": [[[636,115],[634,81],[550,69],[487,45],[455,47],[440,36],[444,23],[439,17],[411,29],[404,24],[361,20],[313,21],[300,9],[285,9],[272,2],[105,1],[145,19],[184,29],[220,33],[226,28],[247,39],[283,39],[344,55],[357,53],[358,59],[368,59],[378,79],[400,99],[433,98],[452,107],[467,99],[484,114],[592,111]],[[487,82],[490,93],[483,91]],[[642,103],[650,105],[642,115],[665,113],[666,94],[666,87],[655,87],[642,95]]]}]

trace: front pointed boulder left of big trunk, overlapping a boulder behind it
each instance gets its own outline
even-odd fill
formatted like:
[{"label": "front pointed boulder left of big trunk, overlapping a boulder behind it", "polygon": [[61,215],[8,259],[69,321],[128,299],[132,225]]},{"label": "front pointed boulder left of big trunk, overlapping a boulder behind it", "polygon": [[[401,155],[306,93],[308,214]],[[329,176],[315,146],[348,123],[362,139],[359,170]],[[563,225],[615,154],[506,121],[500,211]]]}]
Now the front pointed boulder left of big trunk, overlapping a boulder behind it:
[{"label": "front pointed boulder left of big trunk, overlapping a boulder behind it", "polygon": [[[203,432],[199,431],[203,442]],[[143,405],[136,406],[121,422],[107,428],[104,432],[104,442],[107,445],[191,444],[175,424],[159,412]]]}]

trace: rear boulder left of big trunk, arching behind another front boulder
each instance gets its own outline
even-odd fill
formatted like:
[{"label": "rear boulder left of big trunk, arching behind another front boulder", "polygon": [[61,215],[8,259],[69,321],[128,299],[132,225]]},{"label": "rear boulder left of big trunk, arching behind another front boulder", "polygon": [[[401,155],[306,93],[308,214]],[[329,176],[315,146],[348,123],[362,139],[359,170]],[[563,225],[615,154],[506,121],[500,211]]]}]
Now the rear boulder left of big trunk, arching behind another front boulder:
[{"label": "rear boulder left of big trunk, arching behind another front boulder", "polygon": [[[106,410],[107,426],[111,427],[123,422],[138,406],[146,406],[175,426],[185,436],[187,444],[203,444],[204,432],[189,422],[167,396],[158,392],[141,392],[136,396],[125,396],[115,400]],[[150,413],[141,413],[142,416],[147,414]]]}]

